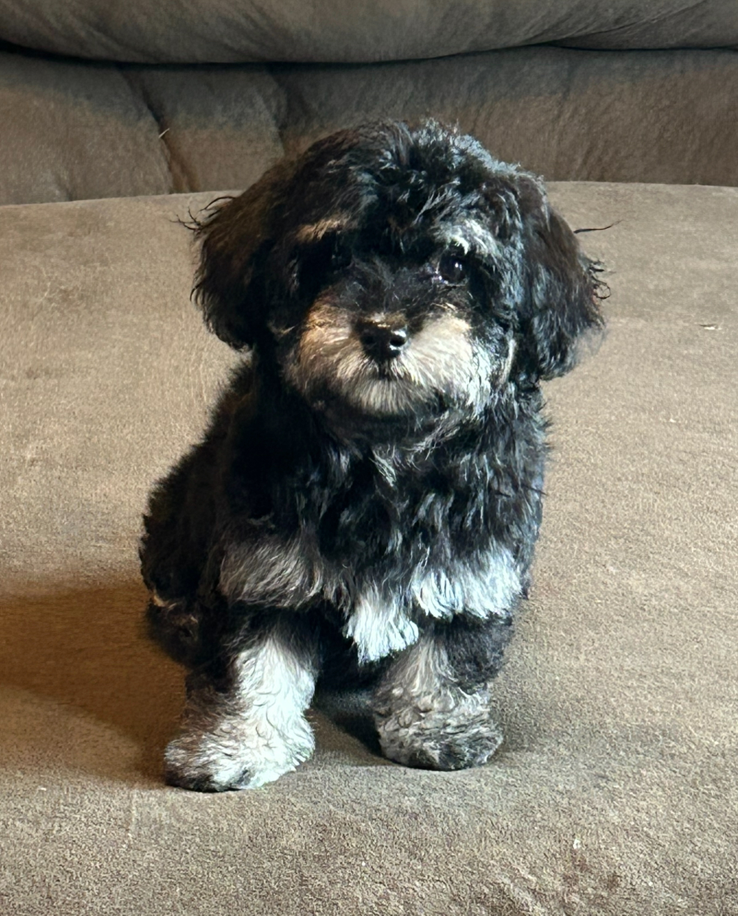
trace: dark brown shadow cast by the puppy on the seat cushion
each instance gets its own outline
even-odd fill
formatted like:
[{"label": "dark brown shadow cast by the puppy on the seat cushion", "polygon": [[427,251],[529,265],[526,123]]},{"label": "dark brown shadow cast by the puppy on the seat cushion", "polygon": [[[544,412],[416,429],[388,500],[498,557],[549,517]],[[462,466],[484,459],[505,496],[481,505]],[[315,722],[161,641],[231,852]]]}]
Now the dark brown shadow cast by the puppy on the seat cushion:
[{"label": "dark brown shadow cast by the puppy on the seat cushion", "polygon": [[[184,703],[184,671],[148,640],[146,603],[135,580],[47,586],[0,599],[0,685],[11,688],[3,702],[16,703],[14,740],[27,745],[25,757],[103,778],[161,783],[164,748]],[[75,734],[68,723],[80,716]],[[46,727],[39,727],[41,719]],[[386,762],[359,694],[343,699],[321,691],[309,719],[319,753],[362,766]],[[106,727],[95,730],[95,722]],[[75,741],[85,747],[72,747]]]}]

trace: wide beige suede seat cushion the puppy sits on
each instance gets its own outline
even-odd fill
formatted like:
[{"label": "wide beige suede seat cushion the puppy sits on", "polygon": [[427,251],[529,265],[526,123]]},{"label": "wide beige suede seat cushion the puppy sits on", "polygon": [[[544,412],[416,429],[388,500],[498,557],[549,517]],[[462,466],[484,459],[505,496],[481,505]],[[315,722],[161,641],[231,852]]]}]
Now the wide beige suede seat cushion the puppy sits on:
[{"label": "wide beige suede seat cushion the puppy sits on", "polygon": [[547,388],[533,598],[483,769],[324,713],[263,790],[168,789],[182,675],[147,643],[147,490],[233,357],[188,300],[209,199],[0,208],[0,911],[738,913],[738,191],[559,184],[609,267],[600,352]]}]

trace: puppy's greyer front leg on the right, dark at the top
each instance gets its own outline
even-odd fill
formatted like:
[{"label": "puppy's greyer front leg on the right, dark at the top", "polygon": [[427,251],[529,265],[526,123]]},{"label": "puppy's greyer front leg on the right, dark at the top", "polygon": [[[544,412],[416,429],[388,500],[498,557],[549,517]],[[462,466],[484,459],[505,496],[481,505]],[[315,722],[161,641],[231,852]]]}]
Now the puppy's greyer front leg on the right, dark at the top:
[{"label": "puppy's greyer front leg on the right, dark at the top", "polygon": [[486,763],[502,742],[490,708],[509,621],[435,624],[392,663],[374,693],[385,756],[409,767],[464,769]]}]

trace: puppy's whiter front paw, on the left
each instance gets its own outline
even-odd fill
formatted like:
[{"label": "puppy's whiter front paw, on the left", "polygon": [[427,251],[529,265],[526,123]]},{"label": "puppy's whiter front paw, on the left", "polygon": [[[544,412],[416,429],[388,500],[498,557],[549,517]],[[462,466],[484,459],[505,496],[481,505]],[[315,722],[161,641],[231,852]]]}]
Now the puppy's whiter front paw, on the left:
[{"label": "puppy's whiter front paw, on the left", "polygon": [[164,755],[169,785],[201,792],[257,789],[312,754],[315,740],[304,717],[288,732],[256,719],[222,719],[210,731],[186,731],[175,738]]}]

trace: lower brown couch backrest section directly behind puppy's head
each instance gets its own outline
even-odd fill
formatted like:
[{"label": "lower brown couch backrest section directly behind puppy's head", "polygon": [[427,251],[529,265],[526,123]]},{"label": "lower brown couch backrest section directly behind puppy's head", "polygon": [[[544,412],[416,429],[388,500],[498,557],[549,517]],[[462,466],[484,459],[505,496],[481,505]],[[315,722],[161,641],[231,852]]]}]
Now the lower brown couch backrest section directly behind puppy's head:
[{"label": "lower brown couch backrest section directly behind puppy's head", "polygon": [[0,49],[0,203],[244,188],[283,153],[383,117],[458,124],[548,180],[738,185],[736,83],[732,49],[231,66]]}]

